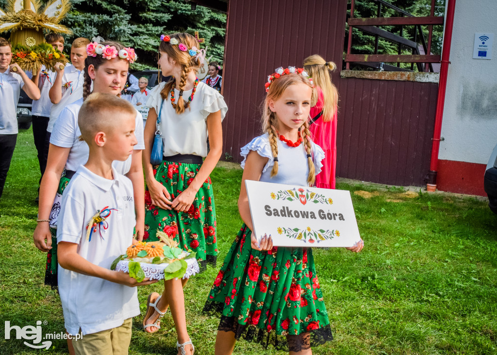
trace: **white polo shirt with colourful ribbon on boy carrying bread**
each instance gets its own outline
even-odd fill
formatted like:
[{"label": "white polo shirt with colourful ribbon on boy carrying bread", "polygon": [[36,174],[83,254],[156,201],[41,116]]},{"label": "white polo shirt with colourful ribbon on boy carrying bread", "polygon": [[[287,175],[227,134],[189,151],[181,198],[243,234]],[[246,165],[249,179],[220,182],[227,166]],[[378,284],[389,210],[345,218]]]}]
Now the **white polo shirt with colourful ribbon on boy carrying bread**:
[{"label": "white polo shirt with colourful ribbon on boy carrying bread", "polygon": [[[81,166],[64,190],[57,226],[57,242],[78,244],[78,254],[92,264],[109,269],[131,245],[136,224],[133,185],[112,170],[108,180]],[[86,224],[97,210],[111,210],[107,229],[97,228],[86,240]],[[119,327],[140,314],[136,287],[112,283],[69,271],[59,265],[59,293],[65,327],[70,334],[83,335]]]}]

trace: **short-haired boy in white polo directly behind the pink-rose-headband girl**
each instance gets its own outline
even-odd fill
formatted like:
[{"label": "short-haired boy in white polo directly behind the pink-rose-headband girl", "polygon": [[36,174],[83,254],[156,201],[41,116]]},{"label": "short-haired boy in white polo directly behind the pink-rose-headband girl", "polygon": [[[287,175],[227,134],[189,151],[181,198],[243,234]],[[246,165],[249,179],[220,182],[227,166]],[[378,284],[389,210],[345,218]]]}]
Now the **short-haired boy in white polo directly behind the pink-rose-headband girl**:
[{"label": "short-haired boy in white polo directly behind the pink-rose-headband girl", "polygon": [[[84,60],[86,54],[86,45],[90,43],[87,38],[79,37],[73,41],[71,46],[71,65],[64,67],[62,63],[55,65],[57,76],[48,92],[50,101],[54,104],[50,111],[50,120],[47,126],[47,136],[45,138],[45,149],[48,155],[50,145],[50,134],[54,129],[54,124],[59,118],[59,114],[64,107],[83,97],[84,82]],[[63,69],[60,69],[62,66]]]}]

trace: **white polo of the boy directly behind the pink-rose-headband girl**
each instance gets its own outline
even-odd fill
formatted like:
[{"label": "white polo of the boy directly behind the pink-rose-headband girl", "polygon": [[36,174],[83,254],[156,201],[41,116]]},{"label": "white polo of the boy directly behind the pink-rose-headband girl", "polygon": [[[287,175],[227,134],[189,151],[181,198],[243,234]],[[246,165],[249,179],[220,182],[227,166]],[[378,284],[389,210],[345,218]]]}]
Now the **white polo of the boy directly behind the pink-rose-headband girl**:
[{"label": "white polo of the boy directly behind the pink-rose-headband girl", "polygon": [[83,97],[83,83],[83,71],[76,69],[73,65],[66,66],[64,69],[64,75],[62,76],[62,98],[58,103],[52,106],[47,132],[53,131],[54,124],[59,118],[64,107]]}]

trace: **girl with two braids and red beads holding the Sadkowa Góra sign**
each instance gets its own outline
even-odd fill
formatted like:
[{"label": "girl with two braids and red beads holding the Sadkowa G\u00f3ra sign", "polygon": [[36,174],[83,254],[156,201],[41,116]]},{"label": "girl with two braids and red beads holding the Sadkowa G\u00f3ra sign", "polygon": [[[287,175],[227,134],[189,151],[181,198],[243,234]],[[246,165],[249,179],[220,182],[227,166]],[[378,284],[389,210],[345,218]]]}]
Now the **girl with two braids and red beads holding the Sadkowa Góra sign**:
[{"label": "girl with two braids and red beads holding the Sadkowa G\u00f3ra sign", "polygon": [[[252,235],[246,180],[312,186],[323,150],[309,138],[315,90],[305,71],[278,68],[269,75],[262,136],[242,147],[244,173],[238,206],[244,224],[214,281],[204,312],[220,317],[216,354],[232,354],[241,337],[264,348],[312,354],[332,339],[311,248],[273,247]],[[362,244],[350,250],[358,252]]]}]

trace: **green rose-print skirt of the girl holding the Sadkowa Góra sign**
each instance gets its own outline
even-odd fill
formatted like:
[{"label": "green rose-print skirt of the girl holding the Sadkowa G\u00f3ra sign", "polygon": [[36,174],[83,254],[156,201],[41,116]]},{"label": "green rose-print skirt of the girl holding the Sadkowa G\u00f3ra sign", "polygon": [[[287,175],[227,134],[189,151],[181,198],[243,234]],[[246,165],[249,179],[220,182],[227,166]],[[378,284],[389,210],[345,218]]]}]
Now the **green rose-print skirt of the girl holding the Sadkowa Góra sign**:
[{"label": "green rose-print skirt of the girl holding the Sadkowa G\u00f3ra sign", "polygon": [[244,224],[212,286],[204,313],[238,340],[299,352],[333,339],[311,248],[250,246]]}]

